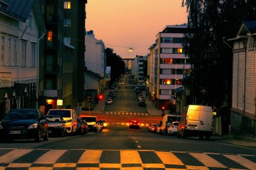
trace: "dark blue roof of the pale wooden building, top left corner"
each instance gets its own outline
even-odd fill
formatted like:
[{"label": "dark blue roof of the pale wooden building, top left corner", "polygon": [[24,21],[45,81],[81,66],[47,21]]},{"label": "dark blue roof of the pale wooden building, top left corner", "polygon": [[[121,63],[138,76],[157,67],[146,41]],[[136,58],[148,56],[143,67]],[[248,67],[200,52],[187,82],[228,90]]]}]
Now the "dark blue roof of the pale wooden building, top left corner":
[{"label": "dark blue roof of the pale wooden building, top left corner", "polygon": [[25,22],[32,9],[34,0],[1,0],[0,11]]}]

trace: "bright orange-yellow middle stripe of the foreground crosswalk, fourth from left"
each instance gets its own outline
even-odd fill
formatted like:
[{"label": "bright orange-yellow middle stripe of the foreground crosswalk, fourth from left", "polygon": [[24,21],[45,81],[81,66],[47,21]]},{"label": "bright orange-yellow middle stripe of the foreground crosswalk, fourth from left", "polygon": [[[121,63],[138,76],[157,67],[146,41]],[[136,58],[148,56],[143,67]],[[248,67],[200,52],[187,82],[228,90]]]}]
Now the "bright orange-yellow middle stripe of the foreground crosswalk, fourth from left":
[{"label": "bright orange-yellow middle stripe of the foreground crosswalk, fourth from left", "polygon": [[121,163],[142,163],[138,151],[121,151]]}]

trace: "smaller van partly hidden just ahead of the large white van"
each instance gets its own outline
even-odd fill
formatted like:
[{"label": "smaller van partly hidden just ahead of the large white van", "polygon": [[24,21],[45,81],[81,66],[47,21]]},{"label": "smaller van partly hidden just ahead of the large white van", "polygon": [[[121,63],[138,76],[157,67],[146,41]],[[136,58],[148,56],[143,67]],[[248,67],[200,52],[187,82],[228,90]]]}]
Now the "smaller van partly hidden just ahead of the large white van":
[{"label": "smaller van partly hidden just ahead of the large white van", "polygon": [[168,127],[172,122],[179,122],[181,120],[181,115],[168,114],[162,118],[161,132],[162,134],[167,134]]}]

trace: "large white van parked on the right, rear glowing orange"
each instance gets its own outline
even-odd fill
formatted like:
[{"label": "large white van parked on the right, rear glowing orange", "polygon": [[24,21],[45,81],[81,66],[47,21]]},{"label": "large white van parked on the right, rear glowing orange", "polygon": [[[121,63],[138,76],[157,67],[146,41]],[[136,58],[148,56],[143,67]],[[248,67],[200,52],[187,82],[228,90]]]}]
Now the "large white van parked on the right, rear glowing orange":
[{"label": "large white van parked on the right, rear glowing orange", "polygon": [[212,107],[207,105],[187,105],[181,112],[178,125],[178,136],[205,136],[207,140],[212,136]]}]

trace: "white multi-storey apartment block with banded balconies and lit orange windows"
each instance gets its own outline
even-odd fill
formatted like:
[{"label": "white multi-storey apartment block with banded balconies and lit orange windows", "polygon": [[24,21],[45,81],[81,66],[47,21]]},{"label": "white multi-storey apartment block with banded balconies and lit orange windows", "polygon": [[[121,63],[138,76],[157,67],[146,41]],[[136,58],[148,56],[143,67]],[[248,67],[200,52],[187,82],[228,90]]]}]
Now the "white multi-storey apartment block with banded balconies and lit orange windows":
[{"label": "white multi-storey apartment block with banded balconies and lit orange windows", "polygon": [[190,74],[189,58],[183,52],[183,35],[186,30],[185,25],[166,26],[156,36],[156,44],[150,48],[155,50],[151,52],[154,69],[150,70],[154,73],[154,80],[151,80],[154,81],[154,89],[150,93],[158,109],[162,106],[166,108],[170,102],[176,103],[174,89],[183,87],[182,79]]}]

